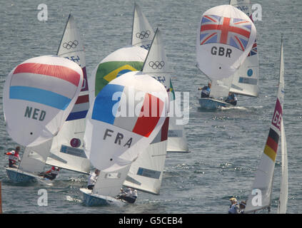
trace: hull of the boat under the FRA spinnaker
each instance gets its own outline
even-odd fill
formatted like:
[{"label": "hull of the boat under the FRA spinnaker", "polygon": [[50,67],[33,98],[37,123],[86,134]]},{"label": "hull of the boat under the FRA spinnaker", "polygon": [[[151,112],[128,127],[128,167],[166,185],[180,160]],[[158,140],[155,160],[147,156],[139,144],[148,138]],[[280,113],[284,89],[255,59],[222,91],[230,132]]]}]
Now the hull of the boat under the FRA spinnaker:
[{"label": "hull of the boat under the FRA spinnaker", "polygon": [[96,195],[88,189],[81,188],[80,191],[83,192],[84,204],[88,207],[106,206],[111,204],[125,204],[125,202],[120,199],[115,199],[114,197],[107,197],[104,195]]}]

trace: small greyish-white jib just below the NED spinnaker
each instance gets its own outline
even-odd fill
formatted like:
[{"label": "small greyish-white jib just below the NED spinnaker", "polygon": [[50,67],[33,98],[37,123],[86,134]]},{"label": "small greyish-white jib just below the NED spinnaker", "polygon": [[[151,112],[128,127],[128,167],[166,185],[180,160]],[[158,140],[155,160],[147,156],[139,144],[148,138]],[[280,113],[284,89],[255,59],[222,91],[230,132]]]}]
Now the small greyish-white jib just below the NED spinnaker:
[{"label": "small greyish-white jib just below the NED spinnaker", "polygon": [[43,172],[46,159],[49,156],[51,141],[49,140],[35,147],[26,147],[19,169],[31,173]]}]

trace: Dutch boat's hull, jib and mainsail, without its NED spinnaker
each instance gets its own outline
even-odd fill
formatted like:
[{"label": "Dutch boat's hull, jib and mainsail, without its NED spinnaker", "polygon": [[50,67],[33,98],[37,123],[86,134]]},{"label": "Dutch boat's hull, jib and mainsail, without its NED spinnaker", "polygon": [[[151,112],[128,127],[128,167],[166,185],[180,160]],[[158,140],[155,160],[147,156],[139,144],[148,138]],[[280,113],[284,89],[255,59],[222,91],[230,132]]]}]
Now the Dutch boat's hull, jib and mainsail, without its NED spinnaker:
[{"label": "Dutch boat's hull, jib and mainsail, without its NED spinnaker", "polygon": [[53,165],[75,172],[89,174],[90,162],[83,147],[85,117],[89,109],[88,83],[84,46],[79,31],[76,29],[74,16],[69,14],[57,55],[67,58],[81,67],[84,79],[81,92],[74,108],[69,112],[66,122],[56,137],[34,147],[26,147],[18,172],[7,170],[14,182],[38,180],[49,184],[45,178],[38,176],[45,165]]}]

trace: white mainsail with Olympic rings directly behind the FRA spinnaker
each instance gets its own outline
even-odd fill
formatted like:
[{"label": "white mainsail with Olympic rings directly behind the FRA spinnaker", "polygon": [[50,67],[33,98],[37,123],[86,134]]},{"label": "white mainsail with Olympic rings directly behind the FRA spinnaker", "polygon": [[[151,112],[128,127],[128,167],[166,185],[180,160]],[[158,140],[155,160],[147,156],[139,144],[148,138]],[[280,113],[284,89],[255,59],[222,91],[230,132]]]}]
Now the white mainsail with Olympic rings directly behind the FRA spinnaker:
[{"label": "white mainsail with Olympic rings directly behind the FRA spinnaker", "polygon": [[[156,30],[142,71],[170,90],[171,76],[159,29]],[[168,122],[169,118],[166,118],[156,138],[132,163],[125,186],[159,194],[168,145]]]}]

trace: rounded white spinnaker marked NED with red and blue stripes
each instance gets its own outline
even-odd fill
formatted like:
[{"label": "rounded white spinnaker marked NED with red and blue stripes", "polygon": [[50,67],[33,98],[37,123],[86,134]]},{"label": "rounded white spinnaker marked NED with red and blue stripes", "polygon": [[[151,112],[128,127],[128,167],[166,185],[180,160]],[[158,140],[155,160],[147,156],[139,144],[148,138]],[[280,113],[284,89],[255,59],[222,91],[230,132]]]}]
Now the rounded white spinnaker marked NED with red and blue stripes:
[{"label": "rounded white spinnaker marked NED with red and blue stripes", "polygon": [[16,66],[4,85],[4,116],[11,138],[35,146],[57,135],[82,83],[81,68],[66,58],[39,56]]}]

